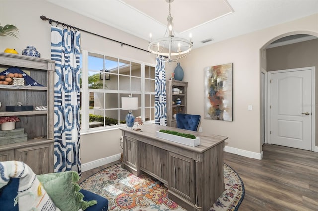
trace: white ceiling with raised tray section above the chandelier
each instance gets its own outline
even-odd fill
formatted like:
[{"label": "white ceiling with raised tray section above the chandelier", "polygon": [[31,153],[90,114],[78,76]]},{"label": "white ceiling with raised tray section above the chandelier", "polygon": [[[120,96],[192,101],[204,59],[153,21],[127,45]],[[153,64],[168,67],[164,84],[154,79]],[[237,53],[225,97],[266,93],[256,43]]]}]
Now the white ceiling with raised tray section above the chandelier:
[{"label": "white ceiling with raised tray section above the chandelier", "polygon": [[[169,4],[165,0],[47,1],[145,40],[149,40],[149,33],[156,39],[166,31]],[[188,38],[191,34],[193,48],[315,13],[318,13],[318,0],[174,0],[171,3],[176,36]],[[201,42],[206,39],[212,41]]]}]

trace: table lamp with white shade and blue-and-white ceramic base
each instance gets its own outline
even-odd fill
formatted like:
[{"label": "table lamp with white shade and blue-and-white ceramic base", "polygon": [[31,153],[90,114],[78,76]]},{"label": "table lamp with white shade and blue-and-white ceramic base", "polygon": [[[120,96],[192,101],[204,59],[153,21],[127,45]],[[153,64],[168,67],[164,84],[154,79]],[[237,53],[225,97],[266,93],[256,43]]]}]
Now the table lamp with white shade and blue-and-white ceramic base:
[{"label": "table lamp with white shade and blue-and-white ceramic base", "polygon": [[131,113],[132,110],[138,110],[138,98],[137,97],[122,97],[121,109],[128,110],[126,115],[126,124],[128,128],[132,128],[135,123],[135,117]]}]

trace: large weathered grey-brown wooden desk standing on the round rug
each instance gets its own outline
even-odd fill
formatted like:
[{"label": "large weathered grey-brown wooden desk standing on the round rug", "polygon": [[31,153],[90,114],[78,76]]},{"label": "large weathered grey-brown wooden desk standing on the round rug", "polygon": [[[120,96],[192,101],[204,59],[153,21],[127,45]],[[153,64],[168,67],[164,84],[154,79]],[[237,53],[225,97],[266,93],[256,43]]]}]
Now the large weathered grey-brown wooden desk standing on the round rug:
[{"label": "large weathered grey-brown wooden desk standing on the round rug", "polygon": [[[155,124],[141,131],[120,128],[124,137],[122,167],[145,172],[168,187],[168,196],[188,211],[208,211],[224,191],[223,148],[227,137]],[[191,147],[157,138],[160,129],[191,133],[201,144]]]}]

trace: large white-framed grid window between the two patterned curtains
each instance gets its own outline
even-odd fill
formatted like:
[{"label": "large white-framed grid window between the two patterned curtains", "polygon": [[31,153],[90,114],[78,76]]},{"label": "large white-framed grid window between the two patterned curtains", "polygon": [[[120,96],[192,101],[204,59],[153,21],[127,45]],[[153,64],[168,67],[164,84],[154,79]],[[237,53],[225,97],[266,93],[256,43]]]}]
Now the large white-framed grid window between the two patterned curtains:
[{"label": "large white-framed grid window between the two patterned curtains", "polygon": [[121,97],[138,97],[133,111],[145,122],[155,120],[155,67],[87,50],[81,55],[81,130],[125,124]]}]

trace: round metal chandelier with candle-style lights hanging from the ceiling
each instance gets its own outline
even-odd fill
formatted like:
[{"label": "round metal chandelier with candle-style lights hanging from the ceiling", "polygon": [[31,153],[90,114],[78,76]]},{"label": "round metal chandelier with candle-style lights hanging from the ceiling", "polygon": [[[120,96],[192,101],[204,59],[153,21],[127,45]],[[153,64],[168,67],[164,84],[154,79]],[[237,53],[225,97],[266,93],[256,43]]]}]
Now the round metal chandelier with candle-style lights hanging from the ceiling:
[{"label": "round metal chandelier with candle-style lights hanging from the ceiling", "polygon": [[177,61],[180,58],[186,56],[192,48],[192,40],[175,37],[171,16],[171,3],[174,0],[165,0],[169,3],[169,16],[167,18],[168,25],[163,38],[151,40],[152,34],[150,34],[148,50],[157,55],[162,61],[172,62]]}]

